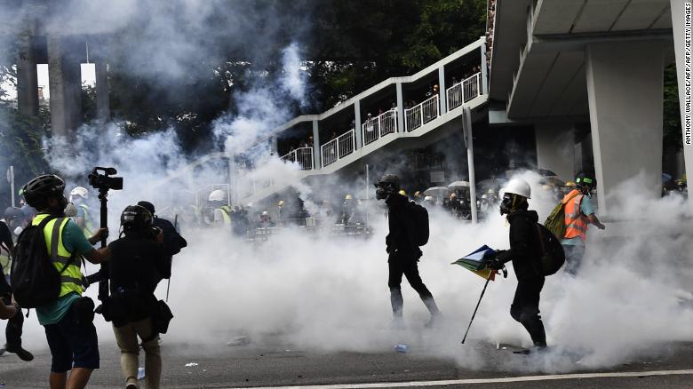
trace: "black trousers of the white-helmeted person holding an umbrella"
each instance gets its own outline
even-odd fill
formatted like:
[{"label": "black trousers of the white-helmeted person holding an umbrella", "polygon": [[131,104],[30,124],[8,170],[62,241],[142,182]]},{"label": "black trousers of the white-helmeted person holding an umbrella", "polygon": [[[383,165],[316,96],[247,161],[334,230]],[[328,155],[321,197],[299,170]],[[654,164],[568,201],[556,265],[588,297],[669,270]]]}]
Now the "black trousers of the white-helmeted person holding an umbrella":
[{"label": "black trousers of the white-helmeted person holding an umbrella", "polygon": [[539,316],[539,295],[544,288],[544,278],[518,280],[510,315],[530,333],[534,345],[546,346],[544,323]]}]

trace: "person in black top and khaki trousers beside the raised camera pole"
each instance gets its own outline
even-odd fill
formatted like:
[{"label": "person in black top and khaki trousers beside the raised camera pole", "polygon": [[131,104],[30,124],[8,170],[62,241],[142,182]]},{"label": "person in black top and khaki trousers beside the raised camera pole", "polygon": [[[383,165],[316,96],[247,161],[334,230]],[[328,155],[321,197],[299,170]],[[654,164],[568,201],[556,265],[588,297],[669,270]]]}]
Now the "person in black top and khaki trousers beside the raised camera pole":
[{"label": "person in black top and khaki trousers beside the raised camera pole", "polygon": [[152,214],[140,205],[130,205],[120,218],[123,237],[108,244],[110,261],[110,305],[113,331],[120,348],[126,388],[137,388],[139,342],[145,351],[147,388],[161,382],[161,350],[154,290],[159,274],[167,271],[163,232],[152,226]]}]

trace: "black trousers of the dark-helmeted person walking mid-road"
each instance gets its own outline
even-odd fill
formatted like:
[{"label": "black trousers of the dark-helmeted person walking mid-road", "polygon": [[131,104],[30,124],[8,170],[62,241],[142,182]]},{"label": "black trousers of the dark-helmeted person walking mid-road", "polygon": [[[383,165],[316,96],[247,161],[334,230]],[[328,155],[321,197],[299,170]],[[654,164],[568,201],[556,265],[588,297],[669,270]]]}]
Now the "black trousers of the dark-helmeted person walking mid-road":
[{"label": "black trousers of the dark-helmeted person walking mid-road", "polygon": [[402,318],[402,309],[404,300],[402,298],[402,274],[407,277],[407,281],[411,288],[417,291],[418,297],[424,302],[426,308],[431,314],[438,314],[438,306],[431,291],[426,288],[426,285],[421,281],[421,276],[418,275],[418,263],[414,258],[397,258],[393,254],[390,255],[387,261],[390,274],[387,280],[387,286],[390,287],[390,303],[392,304],[392,312],[395,318]]}]

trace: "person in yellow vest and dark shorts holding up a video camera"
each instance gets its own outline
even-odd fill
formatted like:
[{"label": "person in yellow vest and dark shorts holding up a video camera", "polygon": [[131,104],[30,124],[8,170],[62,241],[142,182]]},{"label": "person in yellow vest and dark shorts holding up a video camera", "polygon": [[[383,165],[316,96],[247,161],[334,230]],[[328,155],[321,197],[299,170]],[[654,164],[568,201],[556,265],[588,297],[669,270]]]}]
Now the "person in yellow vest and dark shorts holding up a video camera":
[{"label": "person in yellow vest and dark shorts holding up a video camera", "polygon": [[[44,226],[49,255],[55,250],[53,266],[60,273],[60,292],[52,303],[36,308],[38,322],[44,326],[51,349],[52,364],[49,383],[52,389],[84,388],[93,369],[99,369],[99,342],[93,324],[94,303],[82,297],[85,277],[80,256],[92,264],[108,260],[108,249],[94,249],[93,244],[108,236],[100,228],[89,240],[76,223],[66,217],[68,199],[65,181],[53,174],[32,179],[23,188],[29,206],[38,214],[33,226]],[[73,209],[74,211],[74,209]],[[45,223],[44,220],[48,220]],[[58,240],[57,244],[52,244]],[[71,373],[68,377],[68,370]]]}]

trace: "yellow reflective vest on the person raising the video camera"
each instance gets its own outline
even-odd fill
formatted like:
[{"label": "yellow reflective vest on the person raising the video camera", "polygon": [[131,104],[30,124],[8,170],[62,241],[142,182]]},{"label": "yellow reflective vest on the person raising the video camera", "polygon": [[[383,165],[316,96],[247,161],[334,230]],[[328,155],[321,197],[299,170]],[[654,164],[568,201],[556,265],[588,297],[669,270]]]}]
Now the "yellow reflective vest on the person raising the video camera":
[{"label": "yellow reflective vest on the person raising the video camera", "polygon": [[[38,226],[46,217],[48,217],[48,215],[45,213],[36,215],[36,218],[34,218],[31,224]],[[72,253],[62,244],[62,232],[68,224],[68,221],[69,218],[54,218],[44,226],[46,250],[52,254],[53,266],[55,266],[59,272],[62,272],[60,274],[59,298],[71,292],[76,292],[81,296],[84,291],[82,287],[84,276],[80,269],[79,259],[73,259],[72,264],[65,267],[72,257]],[[54,240],[54,237],[58,239]]]}]

